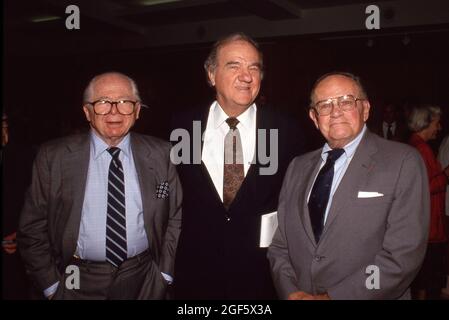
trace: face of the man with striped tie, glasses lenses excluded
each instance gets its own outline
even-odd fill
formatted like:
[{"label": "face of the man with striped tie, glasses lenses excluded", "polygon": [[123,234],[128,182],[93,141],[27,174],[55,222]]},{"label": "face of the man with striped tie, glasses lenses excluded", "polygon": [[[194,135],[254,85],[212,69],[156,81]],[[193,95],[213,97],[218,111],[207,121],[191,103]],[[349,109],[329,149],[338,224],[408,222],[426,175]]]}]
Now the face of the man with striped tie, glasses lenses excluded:
[{"label": "face of the man with striped tie, glasses lenses excluded", "polygon": [[[99,99],[136,101],[137,97],[128,79],[119,74],[110,73],[98,77],[92,85],[89,101]],[[85,104],[83,110],[95,133],[109,146],[116,146],[139,118],[140,104],[136,104],[134,113],[130,115],[118,113],[116,106],[113,106],[107,115],[95,114],[90,104]]]}]

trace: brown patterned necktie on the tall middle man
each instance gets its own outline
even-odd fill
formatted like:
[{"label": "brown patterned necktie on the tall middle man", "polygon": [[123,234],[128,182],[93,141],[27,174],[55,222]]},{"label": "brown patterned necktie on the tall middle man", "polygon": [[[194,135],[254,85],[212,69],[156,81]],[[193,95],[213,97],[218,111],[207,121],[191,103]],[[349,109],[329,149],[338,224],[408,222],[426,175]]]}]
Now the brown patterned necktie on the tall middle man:
[{"label": "brown patterned necktie on the tall middle man", "polygon": [[237,124],[239,120],[234,117],[226,119],[229,132],[224,144],[224,175],[223,175],[223,205],[229,209],[235,195],[245,178],[243,170],[243,151]]}]

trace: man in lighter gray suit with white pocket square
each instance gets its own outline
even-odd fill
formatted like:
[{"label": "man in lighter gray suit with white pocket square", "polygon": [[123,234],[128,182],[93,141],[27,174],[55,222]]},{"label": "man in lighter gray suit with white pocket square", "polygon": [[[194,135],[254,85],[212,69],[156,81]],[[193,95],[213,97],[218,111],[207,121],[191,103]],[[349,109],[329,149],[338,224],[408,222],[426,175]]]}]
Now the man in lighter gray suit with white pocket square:
[{"label": "man in lighter gray suit with white pocket square", "polygon": [[268,250],[282,299],[407,299],[426,250],[429,189],[412,148],[365,125],[359,79],[319,78],[309,116],[327,143],[295,158]]}]

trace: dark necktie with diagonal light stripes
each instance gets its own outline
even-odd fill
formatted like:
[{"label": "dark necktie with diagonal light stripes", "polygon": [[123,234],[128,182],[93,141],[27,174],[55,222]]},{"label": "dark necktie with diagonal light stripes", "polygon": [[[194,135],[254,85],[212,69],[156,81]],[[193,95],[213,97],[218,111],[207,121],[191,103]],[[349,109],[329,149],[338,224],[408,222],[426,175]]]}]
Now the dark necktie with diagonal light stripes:
[{"label": "dark necktie with diagonal light stripes", "polygon": [[118,267],[127,258],[125,179],[118,156],[120,149],[111,147],[108,175],[108,209],[106,216],[106,261]]}]

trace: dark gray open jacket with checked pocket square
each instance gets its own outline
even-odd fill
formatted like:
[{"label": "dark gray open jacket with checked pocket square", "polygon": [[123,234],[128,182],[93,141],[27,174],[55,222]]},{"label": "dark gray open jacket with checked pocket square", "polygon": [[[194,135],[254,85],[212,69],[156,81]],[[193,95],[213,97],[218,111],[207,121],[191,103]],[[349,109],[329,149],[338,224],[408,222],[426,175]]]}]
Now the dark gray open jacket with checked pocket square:
[{"label": "dark gray open jacket with checked pocket square", "polygon": [[[170,161],[170,146],[157,138],[131,133],[151,255],[159,271],[173,275],[182,190]],[[41,290],[61,279],[75,252],[89,155],[90,136],[80,134],[48,142],[36,156],[18,242],[26,270]],[[170,194],[159,199],[156,186],[165,181]]]}]

